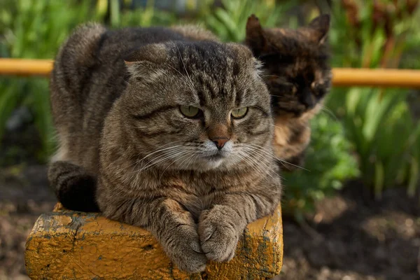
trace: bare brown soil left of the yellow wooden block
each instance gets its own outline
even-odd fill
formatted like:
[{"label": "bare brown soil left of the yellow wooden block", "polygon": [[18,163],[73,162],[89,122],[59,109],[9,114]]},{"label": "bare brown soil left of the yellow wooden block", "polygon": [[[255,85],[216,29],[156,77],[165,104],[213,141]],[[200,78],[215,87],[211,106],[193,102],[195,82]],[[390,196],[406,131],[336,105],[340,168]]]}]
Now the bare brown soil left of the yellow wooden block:
[{"label": "bare brown soil left of the yellow wooden block", "polygon": [[54,204],[45,166],[0,170],[0,280],[29,279],[25,242],[38,216]]}]

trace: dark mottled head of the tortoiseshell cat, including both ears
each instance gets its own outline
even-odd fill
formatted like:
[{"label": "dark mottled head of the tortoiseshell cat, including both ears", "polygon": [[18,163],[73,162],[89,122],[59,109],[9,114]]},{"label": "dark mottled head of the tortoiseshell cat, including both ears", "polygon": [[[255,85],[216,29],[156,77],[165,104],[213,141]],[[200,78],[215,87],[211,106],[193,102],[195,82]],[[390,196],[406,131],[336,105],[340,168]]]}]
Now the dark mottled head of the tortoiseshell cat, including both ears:
[{"label": "dark mottled head of the tortoiseshell cat, including both ears", "polygon": [[248,18],[246,44],[264,64],[263,76],[276,115],[288,112],[300,117],[314,111],[328,92],[329,25],[328,15],[321,15],[308,27],[297,30],[262,29],[255,15]]}]

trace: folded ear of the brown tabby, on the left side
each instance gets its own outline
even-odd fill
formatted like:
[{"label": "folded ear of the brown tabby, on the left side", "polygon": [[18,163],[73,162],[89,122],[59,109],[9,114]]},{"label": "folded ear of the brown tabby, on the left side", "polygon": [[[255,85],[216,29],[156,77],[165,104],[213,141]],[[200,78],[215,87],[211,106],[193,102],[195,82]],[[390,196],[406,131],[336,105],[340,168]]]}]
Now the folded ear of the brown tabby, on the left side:
[{"label": "folded ear of the brown tabby, on the left side", "polygon": [[157,66],[161,66],[167,61],[167,58],[167,46],[163,43],[153,43],[133,50],[124,58],[124,62],[127,71],[132,76],[139,77],[155,71]]}]

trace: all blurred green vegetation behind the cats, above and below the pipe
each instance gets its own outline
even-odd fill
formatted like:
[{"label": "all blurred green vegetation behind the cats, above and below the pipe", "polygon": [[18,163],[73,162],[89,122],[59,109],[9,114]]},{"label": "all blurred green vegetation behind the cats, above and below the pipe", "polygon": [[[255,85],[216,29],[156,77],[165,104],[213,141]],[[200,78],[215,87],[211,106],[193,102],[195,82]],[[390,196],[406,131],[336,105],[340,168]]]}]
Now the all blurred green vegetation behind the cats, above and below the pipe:
[{"label": "all blurred green vegetation behind the cats, above and below the pipe", "polygon": [[[321,10],[332,15],[333,66],[419,69],[418,59],[412,59],[420,51],[417,2],[3,0],[0,57],[52,59],[71,29],[87,21],[110,27],[198,22],[224,41],[242,41],[251,13],[267,27],[295,28]],[[416,195],[419,96],[402,89],[333,88],[324,111],[312,123],[305,169],[284,175],[286,211],[302,218],[316,200],[356,178],[377,199],[384,188],[395,186]],[[27,156],[46,162],[55,148],[48,80],[0,77],[1,165],[13,165],[17,158],[22,160],[21,153],[28,153],[27,147],[7,141],[10,134],[27,133],[27,127],[36,128],[32,141],[39,139]]]}]

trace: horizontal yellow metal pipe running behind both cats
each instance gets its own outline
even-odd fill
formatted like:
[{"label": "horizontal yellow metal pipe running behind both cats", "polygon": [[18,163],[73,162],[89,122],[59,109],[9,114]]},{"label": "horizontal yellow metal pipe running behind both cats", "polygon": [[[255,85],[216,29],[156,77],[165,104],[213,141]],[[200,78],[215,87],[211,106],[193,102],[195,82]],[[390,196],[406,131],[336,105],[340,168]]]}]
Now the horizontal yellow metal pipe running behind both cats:
[{"label": "horizontal yellow metal pipe running behind both cats", "polygon": [[[51,59],[0,58],[0,75],[49,76]],[[334,86],[412,87],[420,88],[420,70],[408,69],[332,69]]]}]

